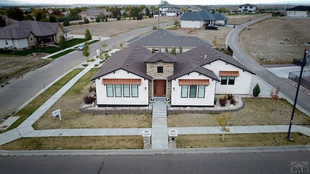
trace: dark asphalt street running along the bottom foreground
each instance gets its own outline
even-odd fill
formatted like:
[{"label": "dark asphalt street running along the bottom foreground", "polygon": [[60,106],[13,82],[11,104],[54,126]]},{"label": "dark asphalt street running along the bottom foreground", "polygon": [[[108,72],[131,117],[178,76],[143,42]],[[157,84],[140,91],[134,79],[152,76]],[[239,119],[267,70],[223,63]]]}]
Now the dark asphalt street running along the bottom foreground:
[{"label": "dark asphalt street running along the bottom foreground", "polygon": [[[0,157],[1,174],[290,174],[310,152]],[[308,164],[309,171],[309,164]]]}]

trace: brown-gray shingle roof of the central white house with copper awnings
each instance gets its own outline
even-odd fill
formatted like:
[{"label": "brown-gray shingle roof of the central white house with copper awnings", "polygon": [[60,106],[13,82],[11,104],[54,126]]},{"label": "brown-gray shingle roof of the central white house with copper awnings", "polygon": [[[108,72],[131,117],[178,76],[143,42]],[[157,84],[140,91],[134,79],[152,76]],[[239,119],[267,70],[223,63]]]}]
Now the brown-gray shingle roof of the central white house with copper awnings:
[{"label": "brown-gray shingle roof of the central white house with copper awnings", "polygon": [[198,72],[214,80],[220,81],[213,71],[202,67],[203,65],[217,60],[222,60],[239,67],[244,71],[252,73],[235,58],[217,51],[208,45],[200,45],[182,54],[174,56],[163,52],[151,54],[149,49],[139,46],[138,44],[131,44],[129,47],[114,53],[102,65],[99,72],[93,76],[92,80],[119,69],[136,74],[148,80],[152,80],[152,77],[146,73],[146,63],[163,61],[174,64],[174,74],[168,77],[168,80],[173,80],[188,73]]}]

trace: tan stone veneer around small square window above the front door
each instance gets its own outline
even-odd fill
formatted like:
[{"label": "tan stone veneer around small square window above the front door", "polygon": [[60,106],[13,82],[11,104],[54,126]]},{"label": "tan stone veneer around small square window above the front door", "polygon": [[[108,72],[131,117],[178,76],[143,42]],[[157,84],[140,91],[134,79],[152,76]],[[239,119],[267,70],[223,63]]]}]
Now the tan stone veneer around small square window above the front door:
[{"label": "tan stone veneer around small square window above the front door", "polygon": [[[157,73],[157,67],[163,67],[163,73]],[[173,63],[165,63],[165,62],[155,62],[155,63],[147,63],[146,64],[146,74],[152,76],[154,79],[166,79],[173,75]]]}]

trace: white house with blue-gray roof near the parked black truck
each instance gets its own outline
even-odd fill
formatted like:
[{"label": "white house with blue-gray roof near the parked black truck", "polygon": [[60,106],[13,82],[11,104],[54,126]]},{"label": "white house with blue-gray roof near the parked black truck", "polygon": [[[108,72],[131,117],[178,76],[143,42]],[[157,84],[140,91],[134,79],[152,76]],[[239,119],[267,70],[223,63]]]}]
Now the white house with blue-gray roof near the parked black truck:
[{"label": "white house with blue-gray roof near the parked black truck", "polygon": [[181,27],[200,29],[205,25],[215,25],[217,23],[227,25],[228,18],[222,14],[212,14],[202,10],[199,12],[186,12],[180,18]]}]

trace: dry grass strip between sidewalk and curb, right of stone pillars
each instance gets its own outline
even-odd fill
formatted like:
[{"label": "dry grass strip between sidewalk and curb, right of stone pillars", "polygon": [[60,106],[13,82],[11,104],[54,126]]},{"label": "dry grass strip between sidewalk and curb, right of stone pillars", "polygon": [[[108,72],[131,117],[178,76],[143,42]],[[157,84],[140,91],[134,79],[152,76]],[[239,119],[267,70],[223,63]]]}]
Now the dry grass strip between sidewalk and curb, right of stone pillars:
[{"label": "dry grass strip between sidewalk and curb, right of stone pillars", "polygon": [[285,145],[309,145],[310,137],[302,133],[291,133],[293,141],[285,139],[286,133],[246,133],[225,134],[222,141],[221,134],[178,135],[177,148],[204,147],[263,147]]}]

